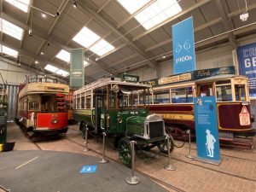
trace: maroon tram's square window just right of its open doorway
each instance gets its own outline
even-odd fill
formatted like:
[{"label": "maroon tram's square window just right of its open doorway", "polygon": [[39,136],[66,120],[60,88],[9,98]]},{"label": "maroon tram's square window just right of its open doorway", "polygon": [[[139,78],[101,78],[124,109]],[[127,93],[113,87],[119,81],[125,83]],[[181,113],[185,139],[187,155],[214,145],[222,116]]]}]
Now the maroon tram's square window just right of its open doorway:
[{"label": "maroon tram's square window just right of its open doorway", "polygon": [[232,101],[231,84],[216,86],[216,97],[218,102]]}]

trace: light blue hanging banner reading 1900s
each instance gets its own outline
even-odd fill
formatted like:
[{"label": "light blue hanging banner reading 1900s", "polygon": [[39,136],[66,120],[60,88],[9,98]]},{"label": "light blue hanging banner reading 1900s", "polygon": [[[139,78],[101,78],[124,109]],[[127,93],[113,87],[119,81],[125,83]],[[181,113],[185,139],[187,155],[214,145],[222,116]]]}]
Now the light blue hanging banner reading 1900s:
[{"label": "light blue hanging banner reading 1900s", "polygon": [[172,26],[173,73],[195,70],[193,17]]}]

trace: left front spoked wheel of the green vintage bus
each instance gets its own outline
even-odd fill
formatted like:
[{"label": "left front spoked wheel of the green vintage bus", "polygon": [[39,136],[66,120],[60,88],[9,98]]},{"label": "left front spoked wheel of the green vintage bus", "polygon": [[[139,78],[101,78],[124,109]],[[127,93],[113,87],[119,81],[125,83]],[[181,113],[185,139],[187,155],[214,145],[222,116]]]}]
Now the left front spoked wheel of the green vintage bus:
[{"label": "left front spoked wheel of the green vintage bus", "polygon": [[130,140],[126,137],[119,140],[119,159],[125,166],[131,166]]}]

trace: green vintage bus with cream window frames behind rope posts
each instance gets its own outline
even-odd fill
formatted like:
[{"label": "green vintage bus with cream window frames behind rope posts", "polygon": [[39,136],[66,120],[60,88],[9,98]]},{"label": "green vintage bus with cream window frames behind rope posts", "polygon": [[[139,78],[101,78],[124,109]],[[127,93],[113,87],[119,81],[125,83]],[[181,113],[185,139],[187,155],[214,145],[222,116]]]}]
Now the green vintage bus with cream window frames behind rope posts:
[{"label": "green vintage bus with cream window frames behind rope posts", "polygon": [[[150,89],[148,84],[99,79],[74,91],[73,117],[82,132],[87,126],[89,135],[105,131],[107,137],[113,136],[119,159],[126,166],[131,165],[131,140],[137,142],[137,148],[157,146],[167,153],[164,120],[159,114],[150,114],[146,103]],[[173,148],[171,144],[170,152]]]}]

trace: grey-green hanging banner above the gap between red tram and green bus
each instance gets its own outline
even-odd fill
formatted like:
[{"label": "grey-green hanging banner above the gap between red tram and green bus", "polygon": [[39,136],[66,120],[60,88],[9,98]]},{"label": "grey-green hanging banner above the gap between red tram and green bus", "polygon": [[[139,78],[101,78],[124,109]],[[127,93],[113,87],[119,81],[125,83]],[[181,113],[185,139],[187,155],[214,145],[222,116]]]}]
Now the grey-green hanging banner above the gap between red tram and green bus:
[{"label": "grey-green hanging banner above the gap between red tram and green bus", "polygon": [[70,49],[70,87],[84,86],[84,49]]}]

